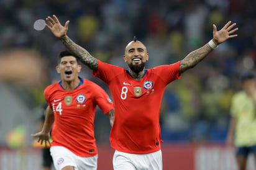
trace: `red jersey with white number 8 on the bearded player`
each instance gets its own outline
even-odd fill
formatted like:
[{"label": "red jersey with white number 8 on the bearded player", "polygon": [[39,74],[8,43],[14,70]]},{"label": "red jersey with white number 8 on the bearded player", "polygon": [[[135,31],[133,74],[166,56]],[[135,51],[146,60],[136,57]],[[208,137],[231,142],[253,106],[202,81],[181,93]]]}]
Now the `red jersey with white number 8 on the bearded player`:
[{"label": "red jersey with white number 8 on the bearded player", "polygon": [[140,80],[124,68],[98,63],[98,72],[93,75],[107,83],[115,107],[112,148],[134,154],[160,150],[160,105],[167,84],[180,78],[180,61],[146,69]]}]

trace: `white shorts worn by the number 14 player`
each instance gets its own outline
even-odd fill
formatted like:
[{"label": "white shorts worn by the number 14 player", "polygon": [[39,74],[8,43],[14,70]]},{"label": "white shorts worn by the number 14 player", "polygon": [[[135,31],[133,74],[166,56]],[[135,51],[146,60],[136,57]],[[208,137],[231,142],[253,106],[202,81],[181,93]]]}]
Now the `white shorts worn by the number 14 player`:
[{"label": "white shorts worn by the number 14 player", "polygon": [[90,157],[76,156],[73,152],[63,146],[52,146],[50,148],[55,169],[61,170],[65,166],[73,166],[75,170],[96,170],[98,154]]}]

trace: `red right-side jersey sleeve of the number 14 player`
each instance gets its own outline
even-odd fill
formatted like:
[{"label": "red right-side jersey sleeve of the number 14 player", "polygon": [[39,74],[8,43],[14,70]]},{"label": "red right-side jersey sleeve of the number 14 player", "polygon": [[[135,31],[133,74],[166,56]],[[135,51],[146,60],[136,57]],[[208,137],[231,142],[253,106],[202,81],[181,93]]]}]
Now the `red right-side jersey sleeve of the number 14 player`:
[{"label": "red right-side jersey sleeve of the number 14 player", "polygon": [[98,85],[96,85],[96,104],[99,106],[101,110],[103,110],[104,114],[107,114],[110,110],[114,109],[114,104],[111,98],[107,95],[107,93]]}]

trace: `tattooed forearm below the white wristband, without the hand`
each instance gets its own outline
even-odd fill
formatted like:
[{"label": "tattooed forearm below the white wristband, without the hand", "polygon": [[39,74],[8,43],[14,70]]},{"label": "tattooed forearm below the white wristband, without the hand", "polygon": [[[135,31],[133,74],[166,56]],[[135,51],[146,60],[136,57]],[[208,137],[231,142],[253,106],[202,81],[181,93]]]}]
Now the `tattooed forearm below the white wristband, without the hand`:
[{"label": "tattooed forearm below the white wristband, without the hand", "polygon": [[183,73],[187,69],[196,66],[200,61],[208,56],[211,51],[213,51],[213,48],[211,48],[207,43],[203,47],[189,53],[183,60],[180,61],[180,73]]}]

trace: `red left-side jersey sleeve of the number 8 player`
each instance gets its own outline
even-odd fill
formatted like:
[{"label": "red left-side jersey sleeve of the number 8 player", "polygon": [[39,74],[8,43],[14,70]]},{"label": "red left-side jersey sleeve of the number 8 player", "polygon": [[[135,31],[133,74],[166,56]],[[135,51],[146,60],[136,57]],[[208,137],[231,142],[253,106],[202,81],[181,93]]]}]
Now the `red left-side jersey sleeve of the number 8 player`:
[{"label": "red left-side jersey sleeve of the number 8 player", "polygon": [[108,63],[98,60],[98,71],[93,71],[93,76],[96,76],[102,79],[105,83],[108,83],[121,72],[121,69],[122,68],[119,66],[109,65]]}]

